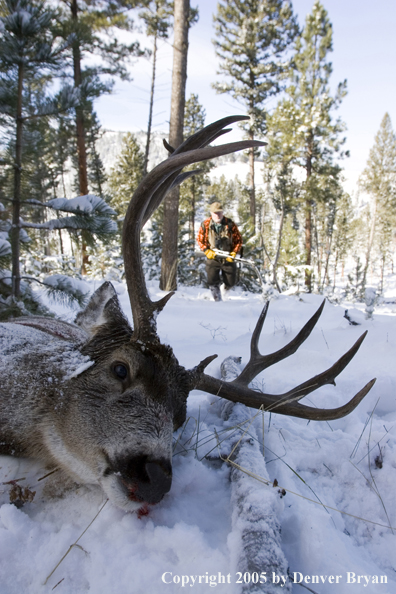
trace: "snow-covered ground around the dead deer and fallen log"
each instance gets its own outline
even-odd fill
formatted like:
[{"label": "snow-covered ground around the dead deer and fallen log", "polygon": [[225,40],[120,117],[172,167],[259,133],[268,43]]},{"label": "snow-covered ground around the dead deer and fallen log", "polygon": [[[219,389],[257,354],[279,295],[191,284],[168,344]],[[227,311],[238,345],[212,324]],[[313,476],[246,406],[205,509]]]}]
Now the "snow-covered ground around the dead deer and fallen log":
[{"label": "snow-covered ground around the dead deer and fallen log", "polygon": [[[116,289],[131,317],[125,287],[118,284]],[[149,289],[157,299],[156,284]],[[263,391],[285,392],[330,367],[369,331],[337,386],[323,387],[303,401],[319,407],[340,406],[377,377],[371,392],[349,416],[308,423],[249,409],[254,420],[250,426],[245,424],[255,446],[253,468],[262,468],[264,479],[278,483],[273,488],[249,478],[245,492],[254,501],[250,521],[253,512],[261,518],[277,517],[291,574],[318,594],[396,591],[396,304],[393,299],[387,301],[369,320],[364,305],[357,309],[353,304],[327,303],[299,351],[255,380],[256,388]],[[289,342],[320,303],[317,295],[273,299],[260,340],[262,353]],[[158,318],[159,334],[186,368],[217,353],[207,372],[219,377],[220,363],[228,355],[241,356],[246,364],[262,306],[261,296],[240,290],[227,301],[214,303],[205,289],[181,288]],[[54,309],[68,320],[75,315]],[[347,321],[345,309],[359,325]],[[188,421],[175,435],[172,489],[142,518],[111,503],[101,509],[105,498],[99,490],[79,488],[62,498],[48,498],[43,494],[46,481],[38,482],[44,468],[0,457],[0,593],[36,594],[55,587],[59,594],[247,591],[243,582],[256,577],[238,574],[244,571],[238,565],[243,557],[244,520],[235,510],[230,467],[216,460],[218,439],[226,438],[221,453],[227,455],[232,416],[228,421],[222,418],[217,400],[191,393]],[[241,405],[234,410],[246,417]],[[263,448],[266,469],[258,459]],[[29,486],[36,496],[17,509],[8,503],[11,487],[4,483],[22,478],[19,484]],[[282,489],[286,490],[283,497]],[[243,501],[239,505],[243,507]],[[266,569],[267,547],[271,551],[273,543],[264,543],[256,563],[260,566],[263,560]],[[275,589],[271,589],[272,573],[266,578],[267,583],[250,591],[286,591],[280,576],[275,576],[275,581],[280,580]],[[242,583],[237,584],[238,579]],[[289,588],[293,593],[307,591],[290,582]]]}]

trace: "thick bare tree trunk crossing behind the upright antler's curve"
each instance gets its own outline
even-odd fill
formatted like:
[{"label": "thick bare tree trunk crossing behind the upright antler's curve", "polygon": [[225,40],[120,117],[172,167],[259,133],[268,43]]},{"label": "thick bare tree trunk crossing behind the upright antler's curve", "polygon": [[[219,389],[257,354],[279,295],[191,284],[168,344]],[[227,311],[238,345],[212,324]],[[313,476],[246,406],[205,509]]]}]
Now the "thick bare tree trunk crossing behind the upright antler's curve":
[{"label": "thick bare tree trunk crossing behind the upright antler's curve", "polygon": [[[175,0],[171,116],[169,144],[177,148],[183,142],[184,106],[186,102],[188,18],[190,0]],[[179,188],[171,190],[164,202],[164,224],[160,289],[177,289],[177,236]]]}]

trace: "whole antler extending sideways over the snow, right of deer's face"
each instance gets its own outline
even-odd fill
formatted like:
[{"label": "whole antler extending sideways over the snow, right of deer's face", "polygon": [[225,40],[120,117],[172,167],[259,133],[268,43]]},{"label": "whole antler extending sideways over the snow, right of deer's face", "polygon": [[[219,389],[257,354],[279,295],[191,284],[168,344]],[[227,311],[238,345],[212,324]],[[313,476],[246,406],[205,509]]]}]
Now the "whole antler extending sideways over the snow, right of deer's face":
[{"label": "whole antler extending sideways over the snow, right of deer's face", "polygon": [[299,404],[298,401],[307,394],[317,390],[321,386],[326,384],[335,385],[335,378],[355,356],[367,332],[362,334],[362,336],[356,341],[352,348],[350,348],[349,351],[347,351],[345,355],[343,355],[332,367],[323,373],[312,377],[308,381],[300,384],[292,390],[289,390],[289,392],[286,392],[285,394],[265,394],[248,388],[248,384],[261,371],[296,352],[296,350],[311,334],[323,311],[324,304],[325,302],[323,301],[317,312],[305,324],[297,336],[286,346],[275,353],[271,353],[270,355],[261,355],[258,349],[258,341],[268,311],[269,303],[267,302],[252,335],[250,345],[250,360],[240,375],[232,382],[223,382],[219,379],[202,373],[203,368],[213,359],[213,357],[208,357],[191,372],[191,379],[194,383],[193,387],[197,388],[198,390],[203,390],[204,392],[209,392],[209,394],[215,394],[216,396],[226,398],[232,402],[241,402],[242,404],[246,404],[252,408],[263,408],[263,410],[276,412],[281,415],[301,417],[303,419],[311,419],[316,421],[330,421],[346,416],[354,408],[356,408],[359,402],[361,402],[369,390],[371,390],[376,381],[375,379],[368,382],[368,384],[366,384],[364,388],[362,388],[349,402],[344,404],[344,406],[340,406],[339,408],[314,408]]}]

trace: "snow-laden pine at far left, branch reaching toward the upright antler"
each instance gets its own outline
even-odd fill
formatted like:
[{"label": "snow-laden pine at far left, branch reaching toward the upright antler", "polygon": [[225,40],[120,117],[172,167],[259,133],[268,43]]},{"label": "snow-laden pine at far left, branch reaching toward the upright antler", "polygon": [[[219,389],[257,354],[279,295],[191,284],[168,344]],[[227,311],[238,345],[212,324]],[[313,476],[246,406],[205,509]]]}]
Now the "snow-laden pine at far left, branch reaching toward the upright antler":
[{"label": "snow-laden pine at far left, branch reaching toward the upright antler", "polygon": [[[43,2],[7,0],[3,5],[6,15],[0,19],[3,33],[0,38],[0,113],[6,151],[2,200],[11,208],[4,209],[1,217],[1,243],[6,251],[7,243],[11,245],[12,272],[7,278],[5,271],[2,287],[11,279],[11,293],[19,299],[22,292],[26,297],[27,289],[24,286],[22,291],[22,280],[42,282],[37,276],[29,276],[30,270],[40,276],[49,272],[52,232],[84,231],[92,242],[94,235],[114,233],[116,226],[111,220],[114,211],[97,196],[74,200],[54,198],[65,161],[61,168],[55,165],[57,134],[51,123],[72,109],[77,101],[71,87],[62,87],[55,96],[48,93],[49,84],[64,68],[69,47],[54,33],[57,15]],[[34,258],[33,269],[32,259],[26,257],[28,249],[44,253]],[[25,255],[23,270],[22,253]],[[47,288],[50,282],[46,281]],[[62,288],[74,291],[70,279],[52,279],[52,292]],[[74,296],[77,293],[74,292]]]}]

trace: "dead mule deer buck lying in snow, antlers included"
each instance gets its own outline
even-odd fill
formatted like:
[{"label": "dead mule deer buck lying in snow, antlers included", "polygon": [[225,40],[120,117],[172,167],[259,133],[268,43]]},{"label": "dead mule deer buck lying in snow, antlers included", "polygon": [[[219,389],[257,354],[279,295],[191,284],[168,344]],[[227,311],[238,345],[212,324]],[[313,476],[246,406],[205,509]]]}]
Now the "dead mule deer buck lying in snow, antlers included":
[{"label": "dead mule deer buck lying in snow, antlers included", "polygon": [[250,361],[232,382],[204,373],[216,355],[186,370],[157,336],[156,316],[172,293],[150,300],[141,264],[141,229],[167,191],[191,175],[181,173],[183,167],[263,145],[241,141],[208,146],[228,132],[225,126],[244,119],[248,118],[233,116],[215,122],[176,150],[167,145],[171,156],[134,193],[123,229],[133,329],[108,282],[93,294],[75,324],[44,317],[0,324],[0,454],[33,457],[49,468],[63,469],[79,483],[99,484],[116,505],[133,511],[158,503],[171,487],[172,432],[186,418],[191,390],[315,420],[349,414],[370,390],[375,380],[335,409],[298,402],[320,386],[334,383],[364,335],[330,369],[285,394],[264,394],[248,387],[260,372],[299,348],[323,304],[288,345],[262,356],[258,343],[267,304],[253,332]]}]

